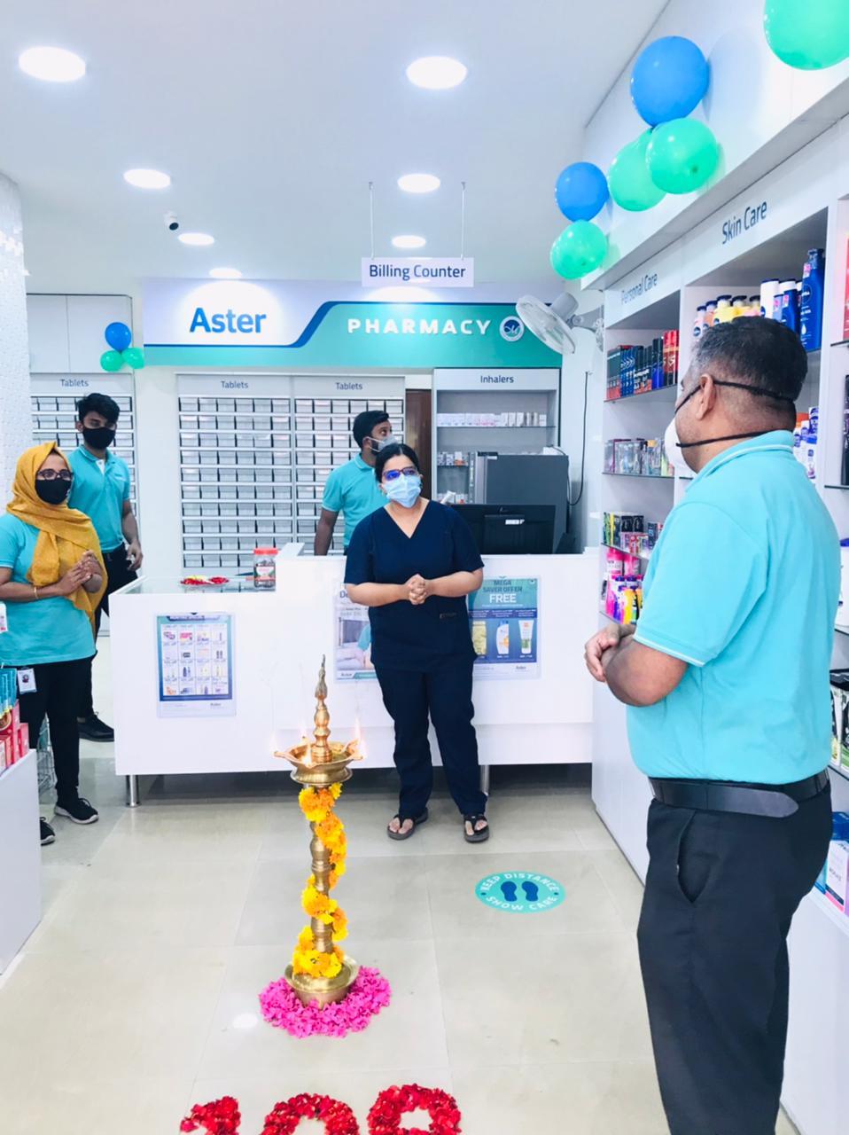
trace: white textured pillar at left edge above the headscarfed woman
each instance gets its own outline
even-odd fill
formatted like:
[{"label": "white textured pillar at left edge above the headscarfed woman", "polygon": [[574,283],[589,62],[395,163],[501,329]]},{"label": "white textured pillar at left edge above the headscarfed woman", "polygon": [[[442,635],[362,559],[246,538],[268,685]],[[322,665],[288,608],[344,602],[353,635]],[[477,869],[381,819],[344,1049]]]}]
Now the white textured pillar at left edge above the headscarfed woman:
[{"label": "white textured pillar at left edge above the headscarfed woman", "polygon": [[22,449],[32,444],[20,196],[0,174],[0,504]]}]

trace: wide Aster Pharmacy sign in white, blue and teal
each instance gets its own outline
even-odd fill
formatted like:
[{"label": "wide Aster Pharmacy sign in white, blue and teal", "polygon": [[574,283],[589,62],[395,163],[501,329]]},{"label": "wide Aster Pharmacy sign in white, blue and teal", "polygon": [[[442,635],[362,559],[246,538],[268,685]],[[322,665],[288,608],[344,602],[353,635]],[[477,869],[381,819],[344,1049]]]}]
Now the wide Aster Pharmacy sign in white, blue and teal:
[{"label": "wide Aster Pharmacy sign in white, blue and teal", "polygon": [[[432,263],[432,262],[431,262]],[[445,280],[364,289],[311,280],[149,280],[144,350],[152,367],[557,367],[526,333],[512,295],[476,289],[456,302]],[[455,285],[453,285],[455,286]],[[485,294],[486,299],[478,299]]]}]

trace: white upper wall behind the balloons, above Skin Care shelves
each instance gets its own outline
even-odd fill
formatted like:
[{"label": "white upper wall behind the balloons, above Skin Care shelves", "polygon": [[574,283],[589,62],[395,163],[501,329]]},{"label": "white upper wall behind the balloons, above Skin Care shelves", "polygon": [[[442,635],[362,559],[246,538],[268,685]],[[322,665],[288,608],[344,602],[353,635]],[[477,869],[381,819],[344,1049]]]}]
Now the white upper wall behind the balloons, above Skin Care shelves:
[{"label": "white upper wall behind the balloons, above Skin Care shelves", "polygon": [[[723,160],[715,182],[723,184],[695,194],[667,195],[644,213],[629,213],[610,204],[599,224],[610,230],[615,259],[622,267],[617,274],[610,262],[604,266],[607,279],[616,279],[637,263],[638,258],[631,254],[658,230],[663,230],[665,243],[688,232],[723,200],[849,112],[849,61],[822,72],[785,66],[766,42],[763,10],[760,0],[738,5],[670,0],[640,45],[642,50],[661,36],[684,35],[708,58],[711,87],[692,117],[706,121],[722,145]],[[604,170],[627,142],[647,129],[629,94],[632,68],[633,59],[585,132],[581,157]],[[639,253],[639,259],[663,243],[655,241]]]}]

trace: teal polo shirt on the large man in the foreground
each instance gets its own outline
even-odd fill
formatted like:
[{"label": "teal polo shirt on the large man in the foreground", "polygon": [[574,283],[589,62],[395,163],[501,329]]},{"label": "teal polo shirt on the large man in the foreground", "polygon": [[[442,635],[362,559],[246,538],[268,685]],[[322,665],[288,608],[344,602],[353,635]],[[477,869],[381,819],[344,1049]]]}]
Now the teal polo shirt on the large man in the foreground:
[{"label": "teal polo shirt on the large man in the foreground", "polygon": [[839,595],[838,533],[792,435],[714,457],[646,573],[634,638],[689,665],[669,697],[628,709],[639,768],[764,784],[822,772]]}]

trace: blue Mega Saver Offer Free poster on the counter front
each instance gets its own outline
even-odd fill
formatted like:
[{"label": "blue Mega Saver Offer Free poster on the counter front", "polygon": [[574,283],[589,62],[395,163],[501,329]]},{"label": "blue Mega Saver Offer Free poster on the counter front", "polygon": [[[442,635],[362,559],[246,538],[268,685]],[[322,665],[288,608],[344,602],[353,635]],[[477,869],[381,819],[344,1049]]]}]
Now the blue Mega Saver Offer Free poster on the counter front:
[{"label": "blue Mega Saver Offer Free poster on the counter front", "polygon": [[539,678],[539,580],[485,579],[469,596],[477,678]]}]

